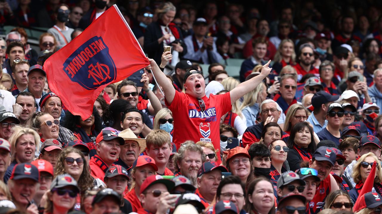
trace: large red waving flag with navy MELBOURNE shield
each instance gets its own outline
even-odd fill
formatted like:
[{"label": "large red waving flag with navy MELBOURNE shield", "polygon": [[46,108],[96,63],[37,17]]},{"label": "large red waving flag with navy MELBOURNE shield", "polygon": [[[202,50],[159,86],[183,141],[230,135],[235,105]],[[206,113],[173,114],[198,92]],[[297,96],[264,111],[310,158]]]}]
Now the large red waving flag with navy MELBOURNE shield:
[{"label": "large red waving flag with navy MELBOURNE shield", "polygon": [[49,88],[66,108],[83,120],[110,83],[149,65],[138,41],[116,5],[44,63]]}]

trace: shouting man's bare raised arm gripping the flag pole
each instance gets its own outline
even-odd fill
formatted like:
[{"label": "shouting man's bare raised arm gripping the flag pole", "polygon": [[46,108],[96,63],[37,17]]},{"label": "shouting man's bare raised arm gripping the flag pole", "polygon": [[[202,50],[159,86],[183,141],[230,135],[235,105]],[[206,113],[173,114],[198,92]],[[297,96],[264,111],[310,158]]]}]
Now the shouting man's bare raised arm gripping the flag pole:
[{"label": "shouting man's bare raised arm gripping the flag pole", "polygon": [[152,70],[152,74],[155,76],[156,80],[158,81],[158,84],[163,88],[163,93],[165,94],[166,101],[168,102],[168,104],[171,104],[175,96],[174,86],[170,81],[168,81],[168,78],[160,70],[159,66],[154,61],[154,59],[150,59],[149,57],[147,57],[147,59],[150,61],[150,65],[147,66],[146,69]]}]

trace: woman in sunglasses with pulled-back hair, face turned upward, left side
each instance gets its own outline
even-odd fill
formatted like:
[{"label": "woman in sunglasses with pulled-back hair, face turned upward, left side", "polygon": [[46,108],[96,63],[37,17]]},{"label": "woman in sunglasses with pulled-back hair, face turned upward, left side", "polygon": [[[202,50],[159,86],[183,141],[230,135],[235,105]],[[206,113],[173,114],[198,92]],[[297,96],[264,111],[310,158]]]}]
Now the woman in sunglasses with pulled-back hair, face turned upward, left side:
[{"label": "woman in sunglasses with pulled-back hair, face turned upward, left side", "polygon": [[[40,136],[40,146],[45,139],[57,140],[60,120],[53,118],[46,112],[34,112],[30,121],[30,127]],[[40,155],[40,151],[36,151],[35,155]]]}]

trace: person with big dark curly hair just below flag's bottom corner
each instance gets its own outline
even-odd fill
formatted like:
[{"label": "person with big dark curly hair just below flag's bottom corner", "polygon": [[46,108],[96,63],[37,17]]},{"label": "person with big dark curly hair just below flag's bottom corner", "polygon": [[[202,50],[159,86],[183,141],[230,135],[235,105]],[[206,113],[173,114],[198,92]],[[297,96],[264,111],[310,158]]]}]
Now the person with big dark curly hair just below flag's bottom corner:
[{"label": "person with big dark curly hair just below flag's bottom corner", "polygon": [[[82,120],[79,115],[73,115],[71,112],[67,112],[64,127],[73,131],[74,139],[81,140],[84,143],[95,144],[95,138],[102,129],[102,120],[95,107],[93,107],[93,113],[86,120]],[[90,157],[93,157],[97,153],[95,147],[92,148],[94,149],[90,149]]]}]

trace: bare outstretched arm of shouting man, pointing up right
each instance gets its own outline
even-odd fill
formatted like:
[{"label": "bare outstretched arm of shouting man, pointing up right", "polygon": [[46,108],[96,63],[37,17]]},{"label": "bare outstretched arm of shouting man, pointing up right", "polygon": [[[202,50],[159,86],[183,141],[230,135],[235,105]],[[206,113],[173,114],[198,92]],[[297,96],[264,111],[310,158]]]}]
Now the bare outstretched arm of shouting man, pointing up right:
[{"label": "bare outstretched arm of shouting man, pointing up right", "polygon": [[244,96],[244,94],[255,89],[257,85],[259,85],[259,83],[269,75],[270,71],[272,70],[272,68],[268,67],[269,63],[270,60],[267,62],[267,64],[263,65],[263,67],[261,68],[261,73],[259,75],[240,83],[238,86],[231,90],[231,103],[236,102],[236,100]]}]

